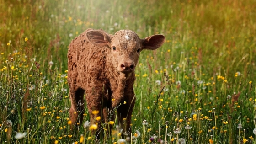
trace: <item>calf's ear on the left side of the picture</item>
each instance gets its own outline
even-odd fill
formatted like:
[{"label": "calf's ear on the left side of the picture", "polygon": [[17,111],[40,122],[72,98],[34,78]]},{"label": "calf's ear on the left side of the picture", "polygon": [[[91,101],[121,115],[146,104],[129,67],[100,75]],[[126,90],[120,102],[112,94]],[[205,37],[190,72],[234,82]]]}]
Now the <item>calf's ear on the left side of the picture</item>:
[{"label": "calf's ear on the left side of the picture", "polygon": [[108,46],[111,42],[110,36],[102,30],[91,30],[86,33],[88,40],[96,46]]}]

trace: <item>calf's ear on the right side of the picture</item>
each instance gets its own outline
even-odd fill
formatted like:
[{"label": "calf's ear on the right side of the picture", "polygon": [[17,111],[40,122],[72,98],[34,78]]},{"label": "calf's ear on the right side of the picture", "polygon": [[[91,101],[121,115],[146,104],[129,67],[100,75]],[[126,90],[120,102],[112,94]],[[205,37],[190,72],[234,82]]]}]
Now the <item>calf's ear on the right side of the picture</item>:
[{"label": "calf's ear on the right side of the picture", "polygon": [[149,37],[146,37],[141,40],[142,41],[142,49],[155,50],[160,48],[165,43],[165,36],[156,34]]}]

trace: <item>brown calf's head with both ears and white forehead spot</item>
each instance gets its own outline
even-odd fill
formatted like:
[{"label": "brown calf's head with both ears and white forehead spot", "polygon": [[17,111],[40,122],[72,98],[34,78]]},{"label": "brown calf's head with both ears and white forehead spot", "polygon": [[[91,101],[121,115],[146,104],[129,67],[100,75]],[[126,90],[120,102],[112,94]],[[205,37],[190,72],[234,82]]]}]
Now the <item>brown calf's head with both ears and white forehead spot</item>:
[{"label": "brown calf's head with both ears and white forehead spot", "polygon": [[120,30],[114,35],[108,35],[102,30],[91,30],[86,33],[86,36],[94,45],[111,49],[112,64],[126,77],[135,70],[142,50],[155,50],[165,42],[163,35],[152,35],[140,39],[131,30]]}]

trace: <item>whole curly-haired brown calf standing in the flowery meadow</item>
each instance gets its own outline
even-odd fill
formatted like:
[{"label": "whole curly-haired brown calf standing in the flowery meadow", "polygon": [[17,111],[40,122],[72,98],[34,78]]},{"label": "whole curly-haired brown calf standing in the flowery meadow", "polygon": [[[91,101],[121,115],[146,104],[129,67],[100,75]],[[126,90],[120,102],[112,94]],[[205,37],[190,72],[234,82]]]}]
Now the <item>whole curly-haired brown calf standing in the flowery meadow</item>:
[{"label": "whole curly-haired brown calf standing in the flowery meadow", "polygon": [[[117,108],[118,123],[125,132],[130,133],[135,104],[134,70],[139,53],[144,49],[157,49],[164,42],[163,35],[140,39],[130,30],[120,30],[110,35],[103,30],[87,29],[76,37],[68,50],[69,116],[72,124],[82,123],[86,93],[91,123],[97,122],[100,129],[101,123],[113,121],[111,112]],[[126,104],[123,104],[124,101]],[[93,115],[94,110],[99,113]],[[98,116],[103,118],[96,121]],[[125,123],[123,118],[126,118]]]}]

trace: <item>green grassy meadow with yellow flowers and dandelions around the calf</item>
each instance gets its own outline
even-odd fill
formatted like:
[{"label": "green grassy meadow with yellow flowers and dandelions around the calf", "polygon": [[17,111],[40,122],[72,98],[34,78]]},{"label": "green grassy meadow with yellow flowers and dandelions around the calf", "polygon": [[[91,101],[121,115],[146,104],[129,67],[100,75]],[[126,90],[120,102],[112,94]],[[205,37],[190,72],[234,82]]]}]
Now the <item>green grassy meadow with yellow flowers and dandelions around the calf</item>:
[{"label": "green grassy meadow with yellow flowers and dandelions around the calf", "polygon": [[[1,144],[256,144],[255,0],[0,0]],[[70,130],[67,51],[87,28],[163,34],[136,67],[132,137]],[[86,105],[86,103],[85,103]]]}]

